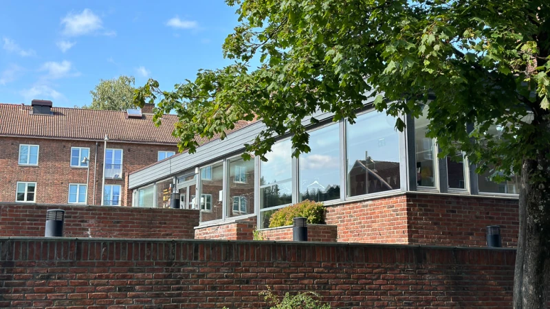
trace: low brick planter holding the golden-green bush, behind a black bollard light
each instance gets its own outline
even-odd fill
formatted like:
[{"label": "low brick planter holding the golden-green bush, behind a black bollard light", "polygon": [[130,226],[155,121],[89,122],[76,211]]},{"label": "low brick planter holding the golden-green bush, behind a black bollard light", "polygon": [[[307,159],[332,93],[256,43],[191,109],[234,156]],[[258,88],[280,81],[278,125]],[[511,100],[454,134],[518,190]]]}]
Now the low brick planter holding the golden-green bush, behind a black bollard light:
[{"label": "low brick planter holding the golden-green bush, behind a black bollard light", "polygon": [[[264,240],[292,241],[292,226],[275,227],[261,231]],[[336,242],[338,227],[336,225],[307,225],[307,241],[309,242]]]}]

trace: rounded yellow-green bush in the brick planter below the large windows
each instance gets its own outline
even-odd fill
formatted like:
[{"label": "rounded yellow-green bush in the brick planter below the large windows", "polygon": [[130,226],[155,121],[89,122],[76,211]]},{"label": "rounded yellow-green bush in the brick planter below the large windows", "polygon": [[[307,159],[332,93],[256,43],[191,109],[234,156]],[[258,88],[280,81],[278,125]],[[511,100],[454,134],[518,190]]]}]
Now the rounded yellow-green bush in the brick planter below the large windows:
[{"label": "rounded yellow-green bush in the brick planter below the large windows", "polygon": [[322,203],[305,200],[275,211],[270,218],[270,227],[292,225],[292,218],[305,217],[312,225],[325,223],[325,207]]}]

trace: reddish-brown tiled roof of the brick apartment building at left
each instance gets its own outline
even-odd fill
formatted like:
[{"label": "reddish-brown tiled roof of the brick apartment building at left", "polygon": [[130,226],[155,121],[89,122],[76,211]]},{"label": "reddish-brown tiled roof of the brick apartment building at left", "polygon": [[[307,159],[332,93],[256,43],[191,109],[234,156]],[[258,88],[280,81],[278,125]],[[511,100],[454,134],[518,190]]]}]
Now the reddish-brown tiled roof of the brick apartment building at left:
[{"label": "reddish-brown tiled roof of the brick apartment building at left", "polygon": [[[124,111],[64,107],[52,107],[53,115],[32,115],[29,111],[32,111],[32,106],[0,104],[0,136],[102,140],[107,134],[111,141],[150,144],[178,142],[172,135],[178,120],[176,115],[164,115],[161,126],[156,127],[151,114],[143,114],[141,119],[136,119],[127,118]],[[239,122],[234,130],[248,124],[250,122]],[[208,140],[197,136],[197,141],[204,144]]]}]

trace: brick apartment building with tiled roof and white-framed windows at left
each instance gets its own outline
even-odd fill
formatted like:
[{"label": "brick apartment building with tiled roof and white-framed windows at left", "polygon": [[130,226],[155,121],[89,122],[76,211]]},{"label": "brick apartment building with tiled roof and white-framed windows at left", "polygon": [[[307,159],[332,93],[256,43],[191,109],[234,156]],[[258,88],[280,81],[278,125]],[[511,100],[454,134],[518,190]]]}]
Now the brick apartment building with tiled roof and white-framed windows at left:
[{"label": "brick apartment building with tiled roof and white-framed windows at left", "polygon": [[131,203],[129,172],[177,152],[177,117],[156,127],[151,112],[0,104],[0,202]]}]

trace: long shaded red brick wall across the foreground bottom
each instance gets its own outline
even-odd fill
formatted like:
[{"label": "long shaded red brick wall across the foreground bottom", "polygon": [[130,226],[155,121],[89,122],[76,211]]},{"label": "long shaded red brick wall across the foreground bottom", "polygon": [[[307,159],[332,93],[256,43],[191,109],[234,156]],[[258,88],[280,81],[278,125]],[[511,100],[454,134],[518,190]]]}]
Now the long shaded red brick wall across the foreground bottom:
[{"label": "long shaded red brick wall across the foreground bottom", "polygon": [[333,308],[511,308],[514,249],[0,239],[2,308],[265,308],[313,290]]}]

